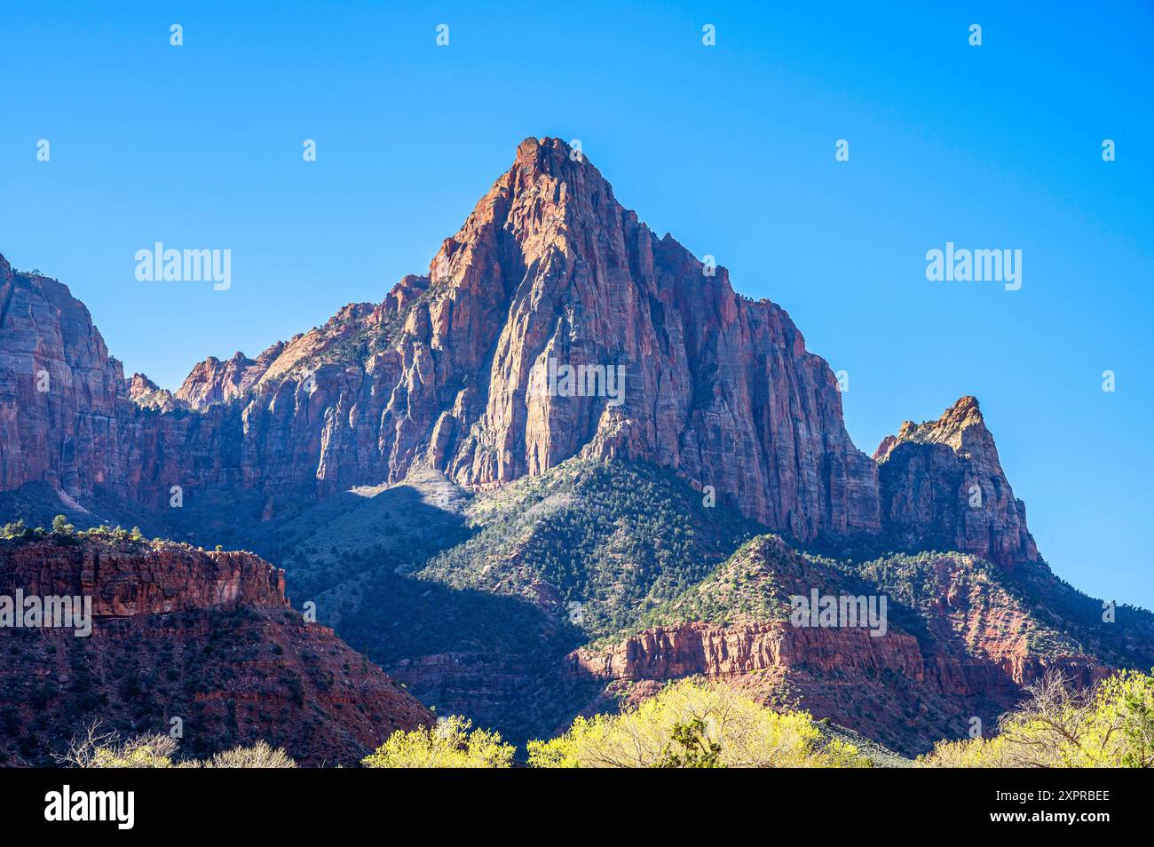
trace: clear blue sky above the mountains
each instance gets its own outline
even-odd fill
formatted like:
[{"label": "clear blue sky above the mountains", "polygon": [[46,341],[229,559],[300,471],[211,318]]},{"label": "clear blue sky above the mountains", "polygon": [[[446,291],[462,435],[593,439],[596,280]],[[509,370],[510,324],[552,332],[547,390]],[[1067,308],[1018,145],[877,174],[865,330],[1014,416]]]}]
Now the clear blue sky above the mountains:
[{"label": "clear blue sky above the mountains", "polygon": [[[129,373],[175,388],[380,300],[522,138],[580,138],[849,372],[859,447],[976,395],[1055,570],[1154,607],[1149,5],[232,6],[0,13],[0,253],[67,283]],[[157,240],[231,249],[232,290],[137,283]],[[1021,249],[1022,288],[927,282],[946,241]]]}]

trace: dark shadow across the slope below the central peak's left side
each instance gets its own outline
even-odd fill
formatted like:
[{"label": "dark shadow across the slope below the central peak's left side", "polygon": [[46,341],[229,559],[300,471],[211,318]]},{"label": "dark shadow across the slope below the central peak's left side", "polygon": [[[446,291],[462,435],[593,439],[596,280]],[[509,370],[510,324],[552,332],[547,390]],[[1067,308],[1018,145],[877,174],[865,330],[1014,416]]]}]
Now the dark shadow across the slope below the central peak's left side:
[{"label": "dark shadow across the slope below the central peak's left side", "polygon": [[467,502],[443,477],[414,474],[268,522],[249,545],[285,569],[294,606],[315,604],[319,623],[422,703],[523,743],[549,735],[594,692],[560,675],[585,637],[563,610],[413,572],[478,532]]}]

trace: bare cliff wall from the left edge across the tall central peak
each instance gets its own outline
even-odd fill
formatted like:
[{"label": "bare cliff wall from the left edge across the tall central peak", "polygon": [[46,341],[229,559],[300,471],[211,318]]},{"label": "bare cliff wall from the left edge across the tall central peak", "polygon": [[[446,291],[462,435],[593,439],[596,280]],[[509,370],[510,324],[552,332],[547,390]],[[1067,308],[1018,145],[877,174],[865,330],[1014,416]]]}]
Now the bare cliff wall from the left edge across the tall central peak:
[{"label": "bare cliff wall from the left edge across the tall central peak", "polygon": [[[519,145],[427,276],[255,360],[208,359],[171,397],[143,377],[125,384],[62,285],[3,272],[3,488],[47,480],[80,496],[103,484],[159,508],[171,485],[242,487],[272,516],[414,464],[489,487],[575,455],[616,456],[674,467],[802,541],[885,531],[891,511],[916,529],[956,492],[942,484],[927,501],[913,480],[904,493],[886,459],[879,496],[879,465],[849,441],[833,374],[789,316],[654,235],[552,138]],[[621,374],[623,390],[533,381],[567,366]],[[57,372],[47,395],[42,367]],[[1010,509],[1009,486],[991,495]],[[990,542],[973,516],[950,526],[961,549],[1024,552]]]}]

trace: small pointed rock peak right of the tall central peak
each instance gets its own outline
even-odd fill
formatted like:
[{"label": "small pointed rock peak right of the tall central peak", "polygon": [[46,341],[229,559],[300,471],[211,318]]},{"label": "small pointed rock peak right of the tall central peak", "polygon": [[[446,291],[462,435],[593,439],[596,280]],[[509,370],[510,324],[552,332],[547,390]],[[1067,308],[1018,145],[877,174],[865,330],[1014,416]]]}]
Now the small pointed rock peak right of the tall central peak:
[{"label": "small pointed rock peak right of the tall central peak", "polygon": [[962,397],[936,421],[906,421],[874,458],[893,537],[1006,567],[1037,561],[1026,504],[1013,496],[976,398]]}]

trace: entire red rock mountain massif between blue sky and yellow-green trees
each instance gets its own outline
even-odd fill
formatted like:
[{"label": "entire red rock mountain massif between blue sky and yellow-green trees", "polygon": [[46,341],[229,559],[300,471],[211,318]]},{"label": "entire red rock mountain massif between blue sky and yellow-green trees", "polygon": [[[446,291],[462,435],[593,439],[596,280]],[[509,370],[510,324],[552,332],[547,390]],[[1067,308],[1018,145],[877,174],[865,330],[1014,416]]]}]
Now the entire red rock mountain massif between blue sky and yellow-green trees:
[{"label": "entire red rock mountain massif between blue sky and yellow-green trees", "polygon": [[[190,544],[25,529],[58,514]],[[38,682],[5,677],[10,760],[77,687],[95,699],[69,719],[182,710],[213,743],[275,737],[309,763],[426,722],[344,642],[514,740],[704,675],[906,755],[992,726],[1049,669],[1154,662],[1149,613],[1107,625],[1050,572],[974,397],[863,454],[789,315],[548,137],[427,272],[209,357],[174,393],[126,377],[67,286],[0,257],[0,518],[23,522],[0,587],[90,594],[98,634],[72,659],[20,643]],[[884,599],[887,623],[800,627],[814,591]],[[219,615],[241,623],[213,646]],[[113,690],[142,643],[171,675],[145,651]]]}]

